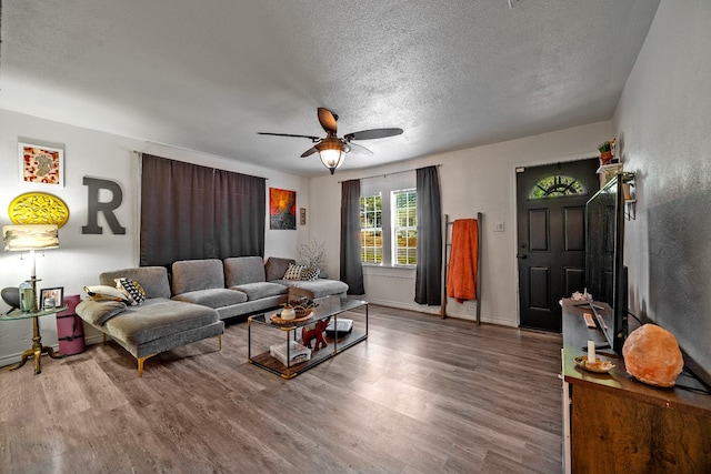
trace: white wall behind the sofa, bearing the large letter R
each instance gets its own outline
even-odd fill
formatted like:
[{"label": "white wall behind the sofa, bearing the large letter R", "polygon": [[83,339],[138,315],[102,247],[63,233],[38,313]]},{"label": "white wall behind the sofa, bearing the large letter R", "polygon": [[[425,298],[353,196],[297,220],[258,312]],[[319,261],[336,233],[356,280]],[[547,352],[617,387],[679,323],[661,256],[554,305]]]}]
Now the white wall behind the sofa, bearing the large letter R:
[{"label": "white wall behind the sofa, bearing the large letter R", "polygon": [[[18,141],[63,148],[64,186],[20,184]],[[134,150],[268,178],[267,188],[297,191],[298,208],[306,208],[309,203],[308,179],[304,178],[0,110],[0,225],[11,223],[8,205],[24,192],[54,194],[67,203],[70,211],[69,222],[59,231],[60,249],[47,251],[44,256],[38,255],[37,274],[42,280],[39,288],[63,286],[64,294],[82,294],[84,285],[98,282],[100,272],[138,264],[139,181]],[[120,183],[123,203],[116,214],[127,229],[124,235],[112,234],[102,216],[99,225],[103,226],[103,234],[81,233],[81,228],[87,224],[88,202],[83,177]],[[108,196],[101,195],[100,199]],[[264,219],[268,219],[267,215]],[[307,242],[308,235],[309,225],[297,225],[297,231],[271,231],[267,224],[266,255],[296,256],[299,244]],[[17,286],[30,276],[28,256],[26,252],[0,252],[0,288]],[[0,311],[7,310],[8,306],[0,301]],[[40,329],[42,343],[56,346],[54,317],[41,317]],[[89,337],[93,335],[96,333],[88,333]],[[32,325],[29,320],[0,322],[0,366],[16,362],[19,354],[31,345]]]}]

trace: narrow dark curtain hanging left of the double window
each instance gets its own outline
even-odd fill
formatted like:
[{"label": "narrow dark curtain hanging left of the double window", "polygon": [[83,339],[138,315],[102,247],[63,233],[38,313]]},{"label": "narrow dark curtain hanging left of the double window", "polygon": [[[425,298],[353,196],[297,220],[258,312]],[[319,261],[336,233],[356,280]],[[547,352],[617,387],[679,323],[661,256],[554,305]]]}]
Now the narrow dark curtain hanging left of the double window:
[{"label": "narrow dark curtain hanging left of the double window", "polygon": [[341,183],[341,281],[348,294],[364,294],[360,260],[360,180]]}]

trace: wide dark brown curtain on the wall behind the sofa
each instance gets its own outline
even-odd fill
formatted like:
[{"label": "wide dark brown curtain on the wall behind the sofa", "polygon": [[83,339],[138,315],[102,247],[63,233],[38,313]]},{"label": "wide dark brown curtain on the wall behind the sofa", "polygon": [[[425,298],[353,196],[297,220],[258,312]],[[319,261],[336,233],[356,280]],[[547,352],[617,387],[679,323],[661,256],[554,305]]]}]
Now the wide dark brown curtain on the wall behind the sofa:
[{"label": "wide dark brown curtain on the wall behind the sofa", "polygon": [[140,264],[264,253],[266,182],[141,155]]}]

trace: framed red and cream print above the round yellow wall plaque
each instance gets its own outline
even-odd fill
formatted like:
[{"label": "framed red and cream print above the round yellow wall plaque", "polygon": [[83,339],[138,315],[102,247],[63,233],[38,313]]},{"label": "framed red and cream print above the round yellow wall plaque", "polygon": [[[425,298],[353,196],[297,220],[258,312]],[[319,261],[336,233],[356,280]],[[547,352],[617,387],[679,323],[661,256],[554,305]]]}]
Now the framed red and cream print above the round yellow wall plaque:
[{"label": "framed red and cream print above the round yellow wall plaque", "polygon": [[64,150],[31,143],[18,143],[20,182],[64,185]]}]

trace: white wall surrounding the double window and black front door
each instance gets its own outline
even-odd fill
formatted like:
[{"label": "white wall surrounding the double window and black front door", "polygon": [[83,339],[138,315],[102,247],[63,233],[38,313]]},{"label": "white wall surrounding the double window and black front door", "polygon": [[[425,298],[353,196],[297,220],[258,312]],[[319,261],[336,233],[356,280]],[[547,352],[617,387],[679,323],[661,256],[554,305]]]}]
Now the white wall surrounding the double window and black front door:
[{"label": "white wall surrounding the double window and black front door", "polygon": [[[611,138],[611,123],[599,122],[542,135],[487,147],[431,155],[399,165],[351,172],[311,180],[312,232],[329,239],[329,272],[338,275],[340,183],[400,170],[440,164],[442,212],[450,219],[475,218],[483,213],[482,310],[484,322],[518,325],[518,266],[515,259],[515,168],[570,161],[597,155],[597,145]],[[348,158],[347,158],[348,159]],[[414,171],[412,171],[414,174]],[[505,232],[493,232],[503,222]],[[439,306],[414,303],[414,271],[393,268],[364,269],[364,299],[389,306],[438,313]],[[473,319],[475,303],[448,303],[448,314]]]}]

